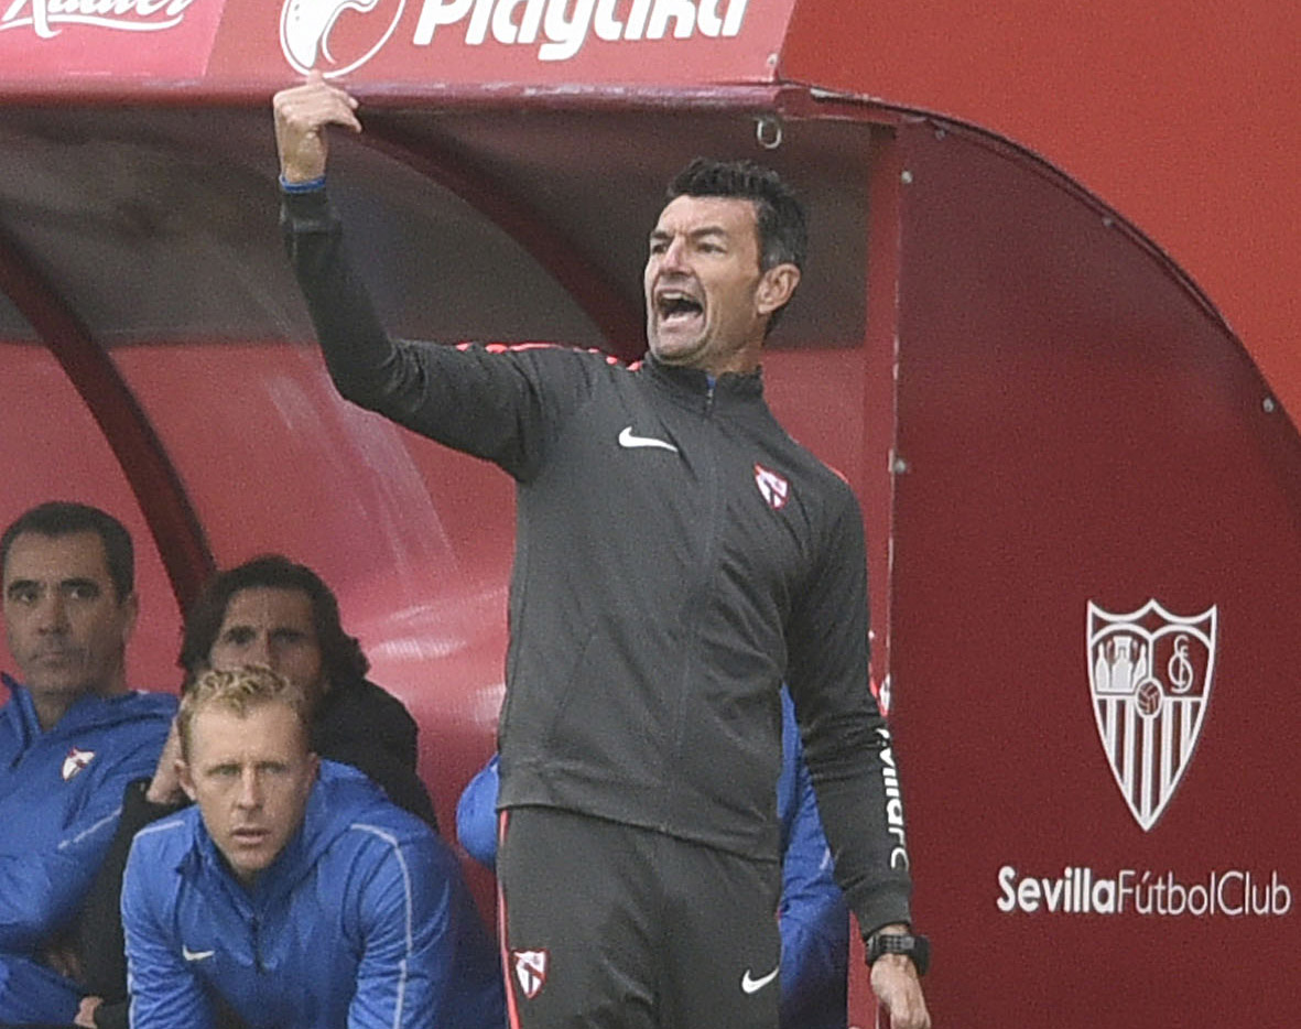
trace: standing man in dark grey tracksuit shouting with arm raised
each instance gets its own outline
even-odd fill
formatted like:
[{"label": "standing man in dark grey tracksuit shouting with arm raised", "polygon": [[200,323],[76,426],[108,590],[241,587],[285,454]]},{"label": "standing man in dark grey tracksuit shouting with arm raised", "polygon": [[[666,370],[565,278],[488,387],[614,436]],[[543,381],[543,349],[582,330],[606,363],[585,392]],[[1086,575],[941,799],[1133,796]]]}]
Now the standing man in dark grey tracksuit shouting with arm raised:
[{"label": "standing man in dark grey tracksuit shouting with arm raised", "polygon": [[650,233],[649,356],[396,341],[325,193],[356,101],[277,94],[281,224],[340,393],[518,484],[497,870],[513,1025],[778,1022],[782,682],[896,1029],[929,1025],[863,516],[758,371],[800,281],[775,174],[695,163]]}]

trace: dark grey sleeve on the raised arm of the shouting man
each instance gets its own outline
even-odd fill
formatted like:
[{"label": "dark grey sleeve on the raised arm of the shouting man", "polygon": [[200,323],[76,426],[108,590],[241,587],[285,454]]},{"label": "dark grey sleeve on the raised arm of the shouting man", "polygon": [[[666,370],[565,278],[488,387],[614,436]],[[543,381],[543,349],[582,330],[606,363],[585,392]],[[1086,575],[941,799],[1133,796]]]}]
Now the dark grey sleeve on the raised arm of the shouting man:
[{"label": "dark grey sleeve on the raised arm of the shouting man", "polygon": [[527,349],[392,338],[324,190],[284,195],[281,230],[340,394],[520,481],[537,474],[565,411],[579,399],[580,376],[546,375]]}]

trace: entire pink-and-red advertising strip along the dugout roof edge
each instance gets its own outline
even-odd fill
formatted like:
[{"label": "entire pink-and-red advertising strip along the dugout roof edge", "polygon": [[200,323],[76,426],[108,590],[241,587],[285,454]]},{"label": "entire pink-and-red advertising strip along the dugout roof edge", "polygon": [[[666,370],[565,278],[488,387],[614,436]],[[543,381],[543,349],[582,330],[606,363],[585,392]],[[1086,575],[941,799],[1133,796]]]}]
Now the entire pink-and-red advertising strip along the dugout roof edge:
[{"label": "entire pink-and-red advertising strip along the dugout roof edge", "polygon": [[[795,0],[129,0],[0,10],[0,83],[691,85],[769,81]],[[51,9],[55,8],[55,9]]]}]

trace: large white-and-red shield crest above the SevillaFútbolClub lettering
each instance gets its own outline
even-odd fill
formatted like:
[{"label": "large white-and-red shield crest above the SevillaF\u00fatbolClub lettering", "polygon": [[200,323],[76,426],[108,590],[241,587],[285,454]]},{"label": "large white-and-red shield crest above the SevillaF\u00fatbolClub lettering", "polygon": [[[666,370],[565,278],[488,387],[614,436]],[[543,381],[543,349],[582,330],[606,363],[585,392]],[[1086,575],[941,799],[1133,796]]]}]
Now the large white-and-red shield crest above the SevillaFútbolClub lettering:
[{"label": "large white-and-red shield crest above the SevillaF\u00fatbolClub lettering", "polygon": [[1155,600],[1111,614],[1089,602],[1089,688],[1116,784],[1144,831],[1188,768],[1211,700],[1214,606],[1190,618]]}]

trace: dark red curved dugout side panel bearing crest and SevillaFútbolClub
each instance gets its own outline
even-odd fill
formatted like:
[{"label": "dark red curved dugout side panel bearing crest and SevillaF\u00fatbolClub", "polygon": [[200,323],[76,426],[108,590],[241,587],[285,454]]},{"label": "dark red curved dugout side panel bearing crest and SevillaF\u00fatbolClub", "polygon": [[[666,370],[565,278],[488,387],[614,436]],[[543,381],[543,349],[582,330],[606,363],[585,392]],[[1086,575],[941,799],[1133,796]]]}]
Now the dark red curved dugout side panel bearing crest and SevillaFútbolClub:
[{"label": "dark red curved dugout side panel bearing crest and SevillaF\u00fatbolClub", "polygon": [[[1297,434],[1184,284],[1059,183],[924,126],[905,147],[891,666],[937,1024],[1285,1024],[1301,978],[1257,957],[1301,950]],[[1218,626],[1145,830],[1086,617],[1150,600]],[[1239,905],[1246,875],[1258,911],[1189,912],[1213,877]]]}]

